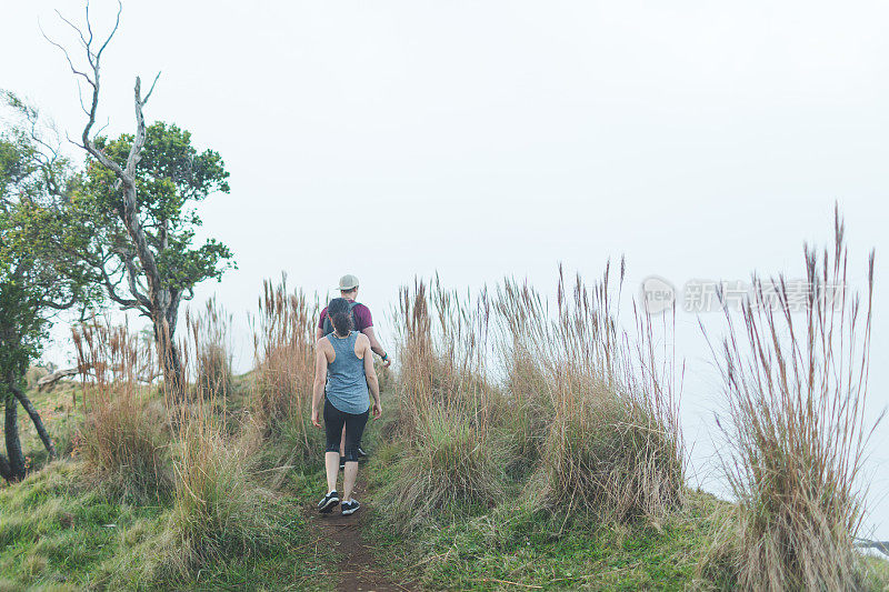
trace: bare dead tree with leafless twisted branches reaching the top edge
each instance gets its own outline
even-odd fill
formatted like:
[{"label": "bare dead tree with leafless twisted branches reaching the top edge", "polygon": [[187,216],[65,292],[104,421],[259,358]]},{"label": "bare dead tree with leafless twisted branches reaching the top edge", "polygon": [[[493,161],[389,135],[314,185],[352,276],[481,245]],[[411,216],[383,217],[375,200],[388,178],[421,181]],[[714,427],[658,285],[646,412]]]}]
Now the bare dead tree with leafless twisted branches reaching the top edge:
[{"label": "bare dead tree with leafless twisted branches reaching the top edge", "polygon": [[[181,290],[174,290],[164,285],[162,281],[157,258],[146,239],[142,221],[139,218],[136,184],[136,170],[146,144],[146,119],[143,111],[154,90],[154,84],[157,84],[158,78],[160,78],[160,72],[154,77],[144,97],[142,96],[141,79],[138,76],[136,77],[136,86],[133,88],[136,134],[126,164],[120,165],[118,162],[114,162],[114,160],[109,158],[94,141],[96,136],[101,132],[101,129],[93,130],[96,127],[101,91],[101,59],[109,42],[118,31],[121,10],[122,4],[118,1],[114,26],[108,37],[101,42],[93,36],[92,24],[90,22],[89,1],[86,7],[86,24],[83,27],[74,24],[57,11],[59,18],[77,33],[79,49],[83,51],[87,58],[86,67],[81,68],[76,66],[74,60],[64,46],[53,41],[47,37],[46,33],[44,37],[64,54],[71,72],[74,74],[78,82],[80,104],[87,116],[87,123],[83,127],[80,142],[74,143],[86,150],[89,155],[114,174],[117,178],[114,184],[116,191],[122,189],[121,201],[117,205],[117,214],[129,234],[132,251],[122,253],[118,250],[97,258],[92,263],[97,267],[101,277],[101,282],[113,302],[118,303],[124,310],[139,309],[151,319],[154,330],[154,342],[163,369],[164,380],[173,388],[174,392],[182,394],[184,392],[182,362],[173,335],[176,332],[179,303],[183,294]],[[89,104],[83,100],[84,89],[88,91]],[[122,261],[123,269],[119,267],[112,268],[113,261]],[[144,283],[140,281],[140,272],[144,274]],[[120,283],[124,278],[129,294],[123,294],[119,291]]]}]

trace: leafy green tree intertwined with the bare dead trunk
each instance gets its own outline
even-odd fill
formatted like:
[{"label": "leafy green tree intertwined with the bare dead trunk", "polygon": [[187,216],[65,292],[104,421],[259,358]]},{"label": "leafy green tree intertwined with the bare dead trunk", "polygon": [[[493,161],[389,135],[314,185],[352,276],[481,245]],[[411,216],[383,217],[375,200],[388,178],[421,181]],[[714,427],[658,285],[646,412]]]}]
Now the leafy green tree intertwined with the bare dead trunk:
[{"label": "leafy green tree intertwined with the bare dead trunk", "polygon": [[[94,147],[122,169],[134,141],[131,134],[99,137]],[[76,198],[73,223],[89,237],[84,260],[113,302],[151,320],[164,377],[176,383],[182,372],[173,339],[179,305],[193,298],[196,284],[233,267],[228,247],[212,238],[196,240],[201,219],[194,204],[228,192],[228,177],[218,152],[198,152],[188,131],[157,122],[146,130],[134,170],[132,211],[123,183],[94,158]]]}]

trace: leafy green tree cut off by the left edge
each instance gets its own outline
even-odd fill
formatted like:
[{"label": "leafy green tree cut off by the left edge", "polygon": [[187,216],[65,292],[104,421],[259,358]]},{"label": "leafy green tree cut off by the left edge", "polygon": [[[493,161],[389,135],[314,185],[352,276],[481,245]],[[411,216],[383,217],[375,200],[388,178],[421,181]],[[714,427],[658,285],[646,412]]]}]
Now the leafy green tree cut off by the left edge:
[{"label": "leafy green tree cut off by the left edge", "polygon": [[0,132],[0,400],[3,403],[6,456],[0,475],[24,476],[18,407],[33,421],[50,458],[52,439],[23,389],[30,363],[41,352],[53,318],[93,298],[93,271],[76,254],[86,247],[67,220],[78,177],[34,109],[11,93],[3,98],[16,123]]}]

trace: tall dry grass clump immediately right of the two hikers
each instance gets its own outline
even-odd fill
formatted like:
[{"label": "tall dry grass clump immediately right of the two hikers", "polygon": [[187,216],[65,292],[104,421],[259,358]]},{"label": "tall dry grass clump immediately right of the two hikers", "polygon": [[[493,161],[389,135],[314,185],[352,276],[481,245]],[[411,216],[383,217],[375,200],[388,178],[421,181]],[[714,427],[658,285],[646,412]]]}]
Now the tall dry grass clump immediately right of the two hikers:
[{"label": "tall dry grass clump immediately right of the two hikers", "polygon": [[505,454],[491,429],[498,394],[485,370],[489,315],[485,292],[461,297],[438,279],[400,290],[396,430],[407,446],[378,503],[402,530],[502,495]]}]

